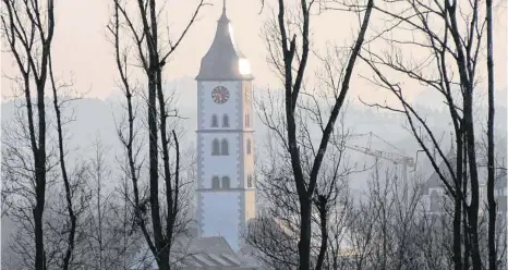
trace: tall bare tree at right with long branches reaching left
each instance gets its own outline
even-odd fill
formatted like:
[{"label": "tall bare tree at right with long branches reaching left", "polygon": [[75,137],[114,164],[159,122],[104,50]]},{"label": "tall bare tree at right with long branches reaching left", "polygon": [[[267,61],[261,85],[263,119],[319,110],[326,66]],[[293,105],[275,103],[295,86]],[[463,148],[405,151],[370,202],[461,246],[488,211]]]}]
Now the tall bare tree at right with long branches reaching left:
[{"label": "tall bare tree at right with long branches reaching left", "polygon": [[[400,2],[402,3],[402,2]],[[423,72],[418,70],[411,64],[403,63],[399,59],[409,57],[408,54],[379,57],[375,56],[371,60],[371,63],[377,63],[385,66],[391,68],[396,72],[408,75],[409,79],[415,79],[416,82],[424,83],[426,86],[436,89],[438,93],[444,95],[447,107],[450,111],[450,116],[456,132],[456,144],[457,144],[457,167],[450,168],[447,161],[449,157],[445,157],[439,150],[439,155],[447,163],[448,171],[455,183],[449,183],[450,176],[444,177],[440,169],[435,165],[435,160],[432,155],[427,156],[433,163],[433,167],[444,185],[446,186],[449,195],[455,199],[462,200],[462,202],[455,201],[456,210],[462,208],[461,213],[455,213],[453,224],[453,262],[456,269],[462,269],[462,262],[469,263],[469,256],[471,257],[471,267],[474,270],[482,269],[482,256],[481,256],[481,243],[479,237],[479,211],[480,211],[480,180],[477,172],[477,154],[476,154],[476,142],[475,142],[475,125],[474,125],[474,89],[477,85],[476,79],[476,66],[480,62],[479,54],[483,48],[483,25],[484,22],[481,20],[481,9],[479,0],[473,0],[469,3],[460,1],[430,1],[430,2],[414,2],[407,1],[408,9],[400,13],[394,13],[389,9],[382,9],[379,11],[389,15],[394,20],[397,20],[399,24],[406,24],[411,29],[423,34],[425,41],[413,40],[400,40],[399,38],[391,38],[396,44],[399,45],[412,45],[415,48],[430,49],[430,59],[437,65],[439,73]],[[406,12],[410,11],[410,12]],[[409,14],[408,14],[409,13]],[[431,19],[427,14],[436,15]],[[445,29],[435,30],[434,23],[435,19],[442,21]],[[406,26],[404,26],[406,27]],[[390,29],[391,32],[392,29]],[[403,38],[402,38],[403,39]],[[394,42],[391,42],[394,44]],[[395,51],[395,50],[394,50]],[[430,61],[430,62],[431,62]],[[430,63],[427,62],[427,63]],[[487,61],[488,62],[488,61]],[[451,65],[450,65],[451,64]],[[372,65],[372,64],[371,64]],[[376,69],[376,68],[375,68]],[[376,73],[379,75],[378,70]],[[458,74],[458,76],[453,76]],[[435,136],[432,134],[432,130],[428,127],[425,121],[418,115],[415,110],[408,105],[406,97],[403,97],[400,84],[392,84],[386,81],[385,77],[380,77],[384,81],[384,86],[389,88],[401,101],[404,108],[402,112],[407,113],[408,120],[410,121],[413,135],[418,138],[419,144],[424,147],[421,134],[413,128],[412,119],[418,119],[420,124],[426,130],[426,133],[433,145],[439,147]],[[458,95],[455,95],[457,93]],[[461,98],[455,101],[457,97]],[[378,106],[386,108],[386,106]],[[390,108],[391,109],[391,108]],[[395,109],[395,111],[400,111]],[[408,113],[409,112],[409,113]],[[494,146],[493,146],[494,147]],[[462,157],[460,157],[463,155]],[[464,162],[465,161],[465,162]],[[462,168],[460,168],[461,163]],[[462,175],[463,174],[463,175]],[[462,191],[461,185],[465,185],[467,191]],[[465,192],[468,195],[465,195]],[[463,218],[459,218],[463,214]],[[459,241],[460,225],[458,222],[467,222],[463,224],[464,228],[464,240],[465,242]],[[460,259],[462,253],[459,245],[464,245],[464,258]]]}]

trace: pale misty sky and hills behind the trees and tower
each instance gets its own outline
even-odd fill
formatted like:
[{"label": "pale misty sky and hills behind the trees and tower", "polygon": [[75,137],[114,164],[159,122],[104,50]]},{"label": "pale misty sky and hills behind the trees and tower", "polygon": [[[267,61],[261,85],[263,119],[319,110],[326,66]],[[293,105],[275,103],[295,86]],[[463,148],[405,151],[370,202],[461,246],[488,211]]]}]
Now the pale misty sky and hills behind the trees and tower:
[{"label": "pale misty sky and hills behind the trees and tower", "polygon": [[[189,13],[195,5],[195,1],[188,0],[171,0],[168,5],[177,4],[177,8],[170,9],[168,21],[174,22],[171,24],[171,32],[178,33],[183,24],[186,23]],[[218,3],[221,1],[214,1]],[[239,47],[242,48],[245,56],[252,62],[252,68],[256,79],[254,81],[254,98],[265,98],[267,88],[274,90],[278,85],[278,79],[273,74],[266,63],[266,52],[263,44],[263,36],[258,30],[264,20],[267,17],[265,12],[259,15],[259,1],[229,1],[229,16],[235,29],[235,39]],[[167,89],[174,91],[178,99],[176,107],[179,110],[181,127],[185,131],[181,145],[183,149],[195,151],[194,142],[196,138],[196,83],[193,75],[196,73],[199,59],[204,56],[209,46],[216,27],[218,10],[220,5],[215,4],[206,9],[198,17],[196,25],[189,33],[189,38],[185,38],[182,46],[171,59],[168,65],[168,71],[165,74],[169,79]],[[269,10],[269,8],[267,8]],[[506,155],[507,143],[507,83],[506,83],[506,14],[504,9],[497,10],[495,24],[499,35],[496,40],[496,79],[498,81],[496,93],[496,139],[497,151]],[[101,0],[89,1],[59,1],[57,16],[64,23],[58,24],[57,36],[53,50],[55,65],[58,69],[64,70],[63,77],[71,74],[74,87],[80,93],[86,95],[77,100],[71,101],[64,107],[64,115],[72,115],[72,121],[65,124],[65,136],[69,149],[69,165],[72,168],[75,160],[90,159],[94,152],[90,150],[96,138],[100,140],[109,150],[107,156],[108,165],[118,172],[119,161],[117,157],[121,156],[123,148],[117,135],[117,124],[125,115],[125,110],[122,107],[124,97],[122,93],[114,87],[114,78],[117,70],[113,68],[112,46],[105,37],[105,25],[108,23],[110,10]],[[351,35],[353,26],[350,23],[355,22],[351,17],[340,17],[336,14],[323,15],[316,19],[313,27],[315,29],[324,29],[329,25],[341,25],[341,30],[323,30],[317,32],[314,36],[316,40],[326,39],[342,40],[343,37]],[[354,23],[353,23],[354,24]],[[326,37],[326,38],[323,38]],[[326,48],[325,44],[317,46],[320,49]],[[76,53],[77,52],[77,53]],[[7,75],[12,75],[12,59],[5,53],[2,53],[2,70]],[[311,63],[316,64],[316,63]],[[365,66],[363,66],[365,69]],[[364,70],[363,70],[364,71]],[[390,113],[386,110],[376,110],[368,108],[360,101],[376,100],[382,102],[387,97],[387,91],[377,89],[368,84],[366,79],[361,78],[362,65],[359,64],[355,69],[354,83],[349,94],[348,108],[344,112],[343,124],[346,130],[351,134],[372,133],[374,136],[362,136],[351,138],[349,144],[366,147],[372,150],[380,150],[386,152],[403,154],[416,159],[416,170],[409,169],[410,180],[424,181],[432,173],[432,168],[428,164],[424,155],[420,154],[416,157],[420,147],[411,133],[404,128],[406,118],[403,114]],[[15,111],[19,106],[16,101],[11,99],[9,89],[13,85],[9,79],[2,79],[2,99],[1,102],[1,122],[2,126],[10,121],[15,121]],[[448,113],[443,113],[445,106],[443,97],[436,94],[435,90],[425,90],[414,88],[414,91],[409,94],[411,100],[420,108],[420,112],[426,116],[427,123],[435,131],[435,134],[440,134],[440,140],[444,149],[448,149],[450,144],[450,120]],[[485,97],[486,99],[486,97]],[[476,100],[479,103],[485,103]],[[49,103],[48,103],[49,106]],[[443,116],[446,115],[446,116]],[[140,118],[145,121],[144,114],[140,113]],[[477,108],[475,120],[479,122],[486,121],[485,108]],[[255,130],[255,152],[256,159],[263,160],[266,157],[267,146],[267,130],[262,121],[256,116],[254,120]],[[51,130],[51,128],[49,128]],[[485,137],[485,131],[476,128],[480,134],[479,139]],[[50,132],[55,132],[51,130]],[[318,131],[317,131],[318,132]],[[143,137],[148,140],[147,136]],[[375,158],[358,151],[347,150],[348,160],[350,163],[355,163],[358,167],[370,167]],[[355,193],[362,193],[367,185],[367,180],[371,171],[355,173],[350,176],[350,184]],[[418,176],[415,176],[418,175]],[[114,176],[112,177],[114,181]],[[118,177],[120,181],[120,177]],[[119,184],[110,183],[110,186]],[[12,223],[7,217],[2,218],[1,243],[7,247],[9,242]],[[2,249],[2,251],[4,251]]]}]

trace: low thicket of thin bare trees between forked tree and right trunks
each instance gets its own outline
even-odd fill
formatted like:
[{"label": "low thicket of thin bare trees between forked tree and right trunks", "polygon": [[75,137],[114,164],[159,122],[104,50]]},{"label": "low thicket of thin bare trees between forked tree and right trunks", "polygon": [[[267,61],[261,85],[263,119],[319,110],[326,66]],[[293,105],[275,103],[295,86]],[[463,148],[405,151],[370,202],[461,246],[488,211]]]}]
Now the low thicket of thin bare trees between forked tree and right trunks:
[{"label": "low thicket of thin bare trees between forked tree and right trunks", "polygon": [[[426,209],[418,179],[403,183],[386,169],[373,172],[368,191],[352,207],[346,269],[450,269],[453,265],[449,216]],[[452,208],[451,208],[452,210]],[[346,257],[346,256],[344,256]],[[346,259],[346,258],[343,258]]]}]

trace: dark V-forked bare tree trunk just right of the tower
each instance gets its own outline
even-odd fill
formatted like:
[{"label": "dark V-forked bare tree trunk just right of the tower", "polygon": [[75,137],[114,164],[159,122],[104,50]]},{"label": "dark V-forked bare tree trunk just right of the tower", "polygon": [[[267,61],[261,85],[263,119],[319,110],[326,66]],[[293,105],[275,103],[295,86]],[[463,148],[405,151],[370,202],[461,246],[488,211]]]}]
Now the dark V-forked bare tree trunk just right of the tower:
[{"label": "dark V-forked bare tree trunk just right of the tower", "polygon": [[[302,13],[301,21],[298,24],[301,28],[301,51],[297,50],[297,35],[289,37],[291,30],[288,25],[294,24],[295,22],[287,22],[286,11],[287,7],[283,0],[278,0],[278,15],[277,15],[277,48],[282,59],[280,64],[281,76],[283,77],[285,86],[285,116],[286,116],[286,137],[287,137],[287,150],[290,155],[292,174],[294,177],[294,186],[298,193],[299,207],[300,207],[300,232],[299,232],[299,269],[309,270],[311,267],[311,238],[312,238],[312,206],[313,196],[316,188],[316,182],[322,167],[324,156],[326,154],[327,146],[329,144],[330,135],[334,131],[337,116],[342,108],[347,93],[350,86],[350,79],[352,71],[363,45],[365,33],[371,19],[371,11],[374,5],[374,1],[370,0],[365,9],[364,17],[361,24],[360,33],[356,37],[353,48],[351,49],[351,56],[348,61],[348,65],[344,71],[343,81],[340,88],[340,94],[335,97],[334,106],[326,124],[322,126],[323,135],[319,140],[319,146],[311,165],[310,175],[305,175],[302,169],[302,154],[299,150],[299,143],[297,137],[298,126],[295,120],[295,109],[299,100],[299,95],[302,91],[303,76],[306,69],[306,63],[310,52],[310,9],[314,1],[301,0],[300,10]],[[294,62],[298,66],[293,66]]]}]

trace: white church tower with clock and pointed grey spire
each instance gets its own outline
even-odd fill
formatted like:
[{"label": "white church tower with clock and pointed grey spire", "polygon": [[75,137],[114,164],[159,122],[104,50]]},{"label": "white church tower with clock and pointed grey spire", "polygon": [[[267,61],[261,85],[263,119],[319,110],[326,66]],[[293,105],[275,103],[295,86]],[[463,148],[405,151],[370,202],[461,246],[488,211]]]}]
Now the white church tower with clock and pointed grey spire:
[{"label": "white church tower with clock and pointed grey spire", "polygon": [[233,39],[226,0],[197,81],[197,222],[199,236],[223,236],[239,250],[255,218],[252,81]]}]

